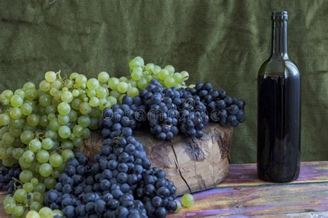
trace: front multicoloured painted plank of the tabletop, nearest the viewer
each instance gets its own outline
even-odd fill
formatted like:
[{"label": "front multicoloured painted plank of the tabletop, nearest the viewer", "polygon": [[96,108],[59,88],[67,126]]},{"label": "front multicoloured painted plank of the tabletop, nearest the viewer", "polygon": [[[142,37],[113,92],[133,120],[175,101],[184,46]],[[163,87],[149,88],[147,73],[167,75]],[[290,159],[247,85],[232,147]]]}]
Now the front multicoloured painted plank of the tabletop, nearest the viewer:
[{"label": "front multicoloured painted plank of the tabletop, nearest the viewer", "polygon": [[328,183],[219,187],[193,195],[192,208],[169,217],[280,217],[303,212],[328,216]]}]

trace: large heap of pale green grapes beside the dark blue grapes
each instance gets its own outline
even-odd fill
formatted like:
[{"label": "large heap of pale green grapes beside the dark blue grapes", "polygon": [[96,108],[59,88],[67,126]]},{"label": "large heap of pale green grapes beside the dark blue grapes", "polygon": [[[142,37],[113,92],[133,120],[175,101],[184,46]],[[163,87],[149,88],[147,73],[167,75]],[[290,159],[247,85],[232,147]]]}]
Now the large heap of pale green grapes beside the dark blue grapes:
[{"label": "large heap of pale green grapes beside the dark blue grapes", "polygon": [[[152,79],[165,87],[185,86],[189,74],[176,73],[171,65],[145,64],[142,57],[129,62],[127,77],[113,78],[100,72],[97,78],[80,73],[62,77],[48,71],[38,86],[26,82],[21,89],[0,95],[0,160],[10,167],[19,164],[19,185],[3,201],[12,217],[44,217],[60,211],[43,207],[46,190],[55,188],[74,148],[84,145],[98,129],[102,111],[122,103],[125,95],[139,95]],[[15,184],[17,184],[15,183]]]}]

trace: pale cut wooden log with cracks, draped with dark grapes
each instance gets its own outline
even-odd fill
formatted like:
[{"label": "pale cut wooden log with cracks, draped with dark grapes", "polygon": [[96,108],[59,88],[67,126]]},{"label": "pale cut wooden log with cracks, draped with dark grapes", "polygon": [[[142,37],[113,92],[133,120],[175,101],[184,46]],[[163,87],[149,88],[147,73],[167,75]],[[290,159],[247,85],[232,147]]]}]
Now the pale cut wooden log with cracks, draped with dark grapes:
[{"label": "pale cut wooden log with cracks, draped with dark grapes", "polygon": [[[157,140],[144,131],[134,131],[134,136],[144,144],[153,166],[165,170],[177,193],[185,194],[213,188],[228,174],[233,128],[210,124],[204,133],[199,139],[179,135],[171,142]],[[100,134],[93,134],[80,151],[92,157],[101,145]]]}]

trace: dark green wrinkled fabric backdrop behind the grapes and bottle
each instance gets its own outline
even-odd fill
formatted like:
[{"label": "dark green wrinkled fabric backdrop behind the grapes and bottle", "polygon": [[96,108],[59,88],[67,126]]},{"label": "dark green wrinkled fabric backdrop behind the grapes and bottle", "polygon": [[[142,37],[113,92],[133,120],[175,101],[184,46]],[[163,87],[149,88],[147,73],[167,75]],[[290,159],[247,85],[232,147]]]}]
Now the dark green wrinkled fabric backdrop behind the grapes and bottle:
[{"label": "dark green wrinkled fabric backdrop behind the grapes and bottle", "polygon": [[127,62],[172,64],[246,100],[234,163],[256,161],[257,71],[271,11],[289,12],[289,55],[302,73],[302,160],[328,160],[328,2],[0,1],[0,91],[48,70],[127,75]]}]

